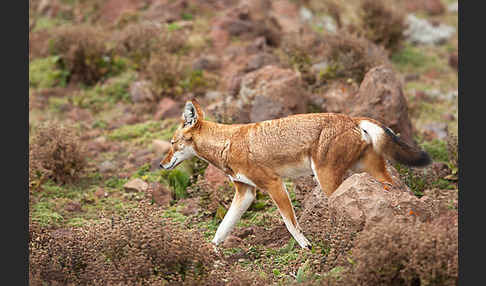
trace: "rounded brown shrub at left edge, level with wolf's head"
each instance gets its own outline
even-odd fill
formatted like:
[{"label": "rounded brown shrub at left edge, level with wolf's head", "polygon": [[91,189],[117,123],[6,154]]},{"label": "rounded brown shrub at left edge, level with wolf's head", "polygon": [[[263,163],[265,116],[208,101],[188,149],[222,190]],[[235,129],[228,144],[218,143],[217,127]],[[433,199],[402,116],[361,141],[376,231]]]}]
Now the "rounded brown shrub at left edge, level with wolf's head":
[{"label": "rounded brown shrub at left edge, level with wolf's head", "polygon": [[38,126],[29,144],[29,182],[46,179],[68,183],[77,179],[86,167],[80,137],[74,129],[58,123]]}]

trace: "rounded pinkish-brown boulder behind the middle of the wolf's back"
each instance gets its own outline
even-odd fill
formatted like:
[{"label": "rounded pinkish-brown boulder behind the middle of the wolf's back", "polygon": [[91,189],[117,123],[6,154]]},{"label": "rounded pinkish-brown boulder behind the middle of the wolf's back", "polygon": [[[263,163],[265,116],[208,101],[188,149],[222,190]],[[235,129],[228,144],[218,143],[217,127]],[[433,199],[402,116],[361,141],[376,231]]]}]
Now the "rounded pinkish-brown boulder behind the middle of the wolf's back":
[{"label": "rounded pinkish-brown boulder behind the middle of the wolf's back", "polygon": [[250,122],[307,110],[307,96],[300,75],[273,65],[246,74],[241,80],[239,97],[241,107],[249,110]]}]

